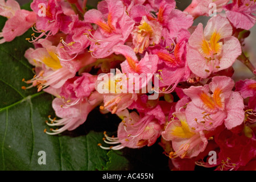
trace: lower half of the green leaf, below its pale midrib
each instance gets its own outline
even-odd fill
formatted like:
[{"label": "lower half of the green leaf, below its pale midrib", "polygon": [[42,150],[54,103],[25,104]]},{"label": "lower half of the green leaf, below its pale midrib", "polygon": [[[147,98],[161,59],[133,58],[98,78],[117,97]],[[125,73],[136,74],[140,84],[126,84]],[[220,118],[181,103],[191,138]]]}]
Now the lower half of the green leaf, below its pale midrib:
[{"label": "lower half of the green leaf, below its pale midrib", "polygon": [[[106,166],[107,151],[97,146],[102,132],[78,137],[43,133],[52,97],[28,96],[0,110],[1,170],[96,170]],[[46,152],[46,165],[39,165],[38,152]]]}]

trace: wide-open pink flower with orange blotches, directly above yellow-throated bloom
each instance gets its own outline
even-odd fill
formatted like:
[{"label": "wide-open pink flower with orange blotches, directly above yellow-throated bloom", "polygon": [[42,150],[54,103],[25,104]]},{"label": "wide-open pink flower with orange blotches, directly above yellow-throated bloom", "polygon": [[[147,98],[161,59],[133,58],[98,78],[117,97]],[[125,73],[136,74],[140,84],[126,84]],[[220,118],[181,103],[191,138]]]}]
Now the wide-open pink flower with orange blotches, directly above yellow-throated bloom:
[{"label": "wide-open pink flower with orange blotches, directly above yellow-throated bloom", "polygon": [[230,77],[216,76],[209,85],[184,89],[192,100],[185,110],[188,125],[195,131],[214,130],[222,123],[228,130],[241,125],[245,118],[243,98],[233,87]]}]

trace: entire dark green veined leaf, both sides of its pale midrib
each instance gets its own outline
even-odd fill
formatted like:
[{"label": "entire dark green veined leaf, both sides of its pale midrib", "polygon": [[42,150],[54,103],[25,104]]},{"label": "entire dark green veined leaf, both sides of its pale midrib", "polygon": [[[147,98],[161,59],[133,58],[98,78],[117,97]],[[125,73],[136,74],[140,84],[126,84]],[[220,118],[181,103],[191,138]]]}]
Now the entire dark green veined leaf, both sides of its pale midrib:
[{"label": "entire dark green veined leaf, both sides of its pale midrib", "polygon": [[[5,23],[1,18],[1,27]],[[52,96],[36,89],[22,90],[32,78],[32,67],[24,52],[32,44],[25,39],[31,31],[0,45],[0,169],[1,170],[101,170],[108,151],[97,146],[103,131],[83,130],[83,135],[52,136],[45,121],[52,109]],[[92,117],[88,117],[92,121]],[[103,121],[103,119],[102,119]],[[76,133],[76,131],[73,131]],[[46,165],[39,164],[39,151],[46,152]]]}]

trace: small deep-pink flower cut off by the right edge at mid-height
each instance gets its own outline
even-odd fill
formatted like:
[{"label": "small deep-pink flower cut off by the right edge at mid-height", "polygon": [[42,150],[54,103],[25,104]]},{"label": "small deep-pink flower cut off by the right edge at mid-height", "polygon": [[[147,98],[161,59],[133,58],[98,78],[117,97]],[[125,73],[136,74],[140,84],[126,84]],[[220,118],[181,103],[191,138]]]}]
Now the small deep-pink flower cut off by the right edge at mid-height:
[{"label": "small deep-pink flower cut off by the right edge at mid-height", "polygon": [[243,98],[249,97],[248,107],[256,111],[256,81],[240,80],[236,82],[236,92],[239,92]]}]

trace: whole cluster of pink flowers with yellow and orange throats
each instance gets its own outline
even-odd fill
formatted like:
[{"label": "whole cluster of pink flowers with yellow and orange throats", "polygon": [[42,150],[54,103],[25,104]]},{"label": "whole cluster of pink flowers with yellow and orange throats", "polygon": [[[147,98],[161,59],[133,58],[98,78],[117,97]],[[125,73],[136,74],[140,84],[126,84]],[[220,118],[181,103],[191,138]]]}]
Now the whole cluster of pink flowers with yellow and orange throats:
[{"label": "whole cluster of pink flowers with yellow and orange throats", "polygon": [[[181,11],[174,0],[104,0],[90,10],[85,0],[34,0],[31,9],[0,1],[0,43],[34,31],[24,56],[35,76],[22,89],[55,96],[58,119],[45,133],[74,130],[99,109],[122,120],[103,149],[158,142],[172,169],[255,169],[256,69],[243,51],[255,1],[193,0]],[[199,16],[209,16],[205,26]],[[254,77],[235,82],[236,60]]]}]

